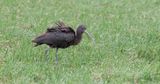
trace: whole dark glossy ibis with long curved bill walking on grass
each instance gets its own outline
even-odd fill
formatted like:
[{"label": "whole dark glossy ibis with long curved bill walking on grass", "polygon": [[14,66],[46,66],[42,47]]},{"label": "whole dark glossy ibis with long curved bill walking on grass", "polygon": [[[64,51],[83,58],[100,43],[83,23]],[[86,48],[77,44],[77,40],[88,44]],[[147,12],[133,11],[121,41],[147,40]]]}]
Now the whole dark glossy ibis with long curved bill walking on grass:
[{"label": "whole dark glossy ibis with long curved bill walking on grass", "polygon": [[[63,22],[56,23],[57,26],[48,28],[47,31],[36,37],[32,42],[36,43],[35,46],[46,44],[50,48],[56,48],[56,64],[58,63],[58,49],[67,48],[71,45],[77,45],[82,39],[82,34],[85,32],[90,38],[91,35],[86,32],[84,25],[79,25],[77,30],[74,31],[71,27],[66,26]],[[46,49],[46,55],[48,57],[49,48]]]}]

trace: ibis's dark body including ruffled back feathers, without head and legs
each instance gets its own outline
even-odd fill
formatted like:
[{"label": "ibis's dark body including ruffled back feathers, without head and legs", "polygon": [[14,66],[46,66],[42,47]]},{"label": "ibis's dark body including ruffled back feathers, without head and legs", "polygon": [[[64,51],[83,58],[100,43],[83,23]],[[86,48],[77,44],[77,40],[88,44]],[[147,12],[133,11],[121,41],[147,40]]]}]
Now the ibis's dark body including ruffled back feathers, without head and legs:
[{"label": "ibis's dark body including ruffled back feathers, without head and legs", "polygon": [[48,28],[44,34],[38,36],[32,42],[36,43],[35,46],[46,44],[51,48],[67,48],[80,42],[81,38],[77,41],[76,37],[75,31],[71,27],[58,25]]}]

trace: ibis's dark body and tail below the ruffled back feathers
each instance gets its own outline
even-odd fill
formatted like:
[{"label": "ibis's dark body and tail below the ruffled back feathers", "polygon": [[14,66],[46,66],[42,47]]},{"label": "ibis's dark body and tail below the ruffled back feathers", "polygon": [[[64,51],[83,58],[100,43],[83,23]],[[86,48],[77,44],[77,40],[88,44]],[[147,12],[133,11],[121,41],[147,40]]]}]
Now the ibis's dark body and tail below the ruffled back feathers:
[{"label": "ibis's dark body and tail below the ruffled back feathers", "polygon": [[67,48],[73,44],[74,39],[74,32],[64,32],[55,30],[40,35],[39,37],[34,39],[33,42],[36,43],[36,46],[46,44],[51,48]]}]

